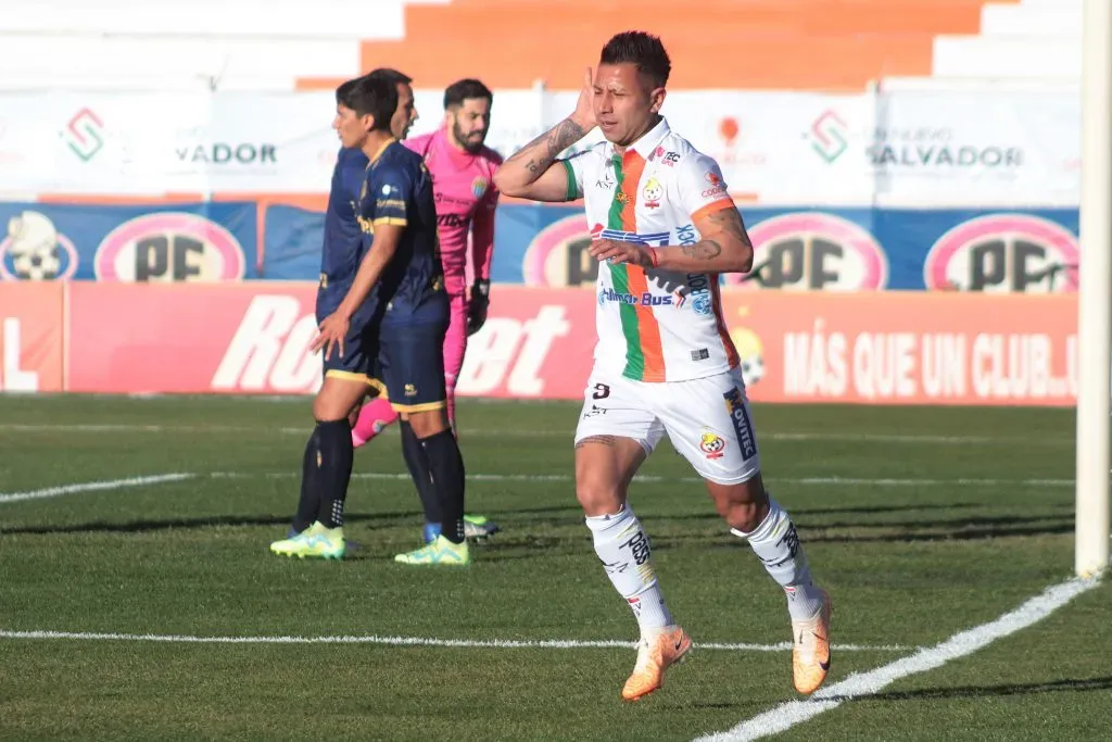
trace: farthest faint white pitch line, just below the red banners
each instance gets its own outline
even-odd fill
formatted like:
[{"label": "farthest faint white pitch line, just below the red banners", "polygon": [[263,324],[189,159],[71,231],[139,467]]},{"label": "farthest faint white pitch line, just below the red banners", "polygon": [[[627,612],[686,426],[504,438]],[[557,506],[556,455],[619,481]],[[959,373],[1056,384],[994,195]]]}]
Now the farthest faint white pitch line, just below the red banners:
[{"label": "farthest faint white pitch line, just below the red banners", "polygon": [[[278,427],[274,431],[282,435],[308,435],[308,426]],[[267,433],[262,426],[246,425],[143,425],[139,423],[2,423],[0,432],[12,433]],[[568,438],[574,435],[572,429],[495,429],[463,428],[460,436],[475,437],[525,437],[525,438]],[[909,443],[909,444],[946,444],[971,445],[987,443],[1023,442],[1025,445],[1073,445],[1072,436],[1042,436],[1036,438],[1016,436],[986,435],[898,435],[887,433],[763,433],[758,436],[770,441],[844,441],[847,443]]]}]

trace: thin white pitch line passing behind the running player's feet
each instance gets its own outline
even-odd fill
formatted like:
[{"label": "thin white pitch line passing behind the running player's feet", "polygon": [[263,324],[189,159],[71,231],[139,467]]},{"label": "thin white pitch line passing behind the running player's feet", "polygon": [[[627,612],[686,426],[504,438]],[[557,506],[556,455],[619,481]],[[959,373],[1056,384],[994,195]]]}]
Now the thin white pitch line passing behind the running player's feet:
[{"label": "thin white pitch line passing behind the running player's feet", "polygon": [[[7,631],[0,630],[0,639],[24,640],[76,640],[76,641],[113,641],[113,642],[163,642],[171,644],[383,644],[386,646],[455,646],[463,649],[493,650],[578,650],[578,649],[634,649],[634,642],[618,640],[575,640],[575,639],[429,639],[425,636],[378,636],[378,635],[339,635],[339,636],[192,636],[188,634],[116,634],[100,632],[71,631]],[[778,644],[724,644],[707,642],[696,644],[701,650],[718,650],[725,652],[787,652],[791,642]],[[862,644],[835,645],[840,652],[909,652],[916,647],[900,645],[867,646]]]}]

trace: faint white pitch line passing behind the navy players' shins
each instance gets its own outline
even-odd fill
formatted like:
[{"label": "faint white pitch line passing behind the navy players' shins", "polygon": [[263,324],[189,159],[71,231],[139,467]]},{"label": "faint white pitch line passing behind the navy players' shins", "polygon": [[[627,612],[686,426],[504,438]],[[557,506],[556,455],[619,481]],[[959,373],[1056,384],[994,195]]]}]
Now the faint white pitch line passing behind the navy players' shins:
[{"label": "faint white pitch line passing behind the navy players' shins", "polygon": [[[301,476],[298,472],[210,472],[208,476],[215,479],[250,479],[266,477],[271,479],[282,479]],[[399,482],[409,481],[409,475],[391,472],[357,472],[351,475],[353,479],[395,479]],[[474,482],[572,482],[570,474],[467,474],[468,481]],[[891,487],[925,487],[925,486],[1030,486],[1030,487],[1072,487],[1073,479],[980,479],[980,478],[867,478],[867,477],[841,477],[841,476],[805,476],[805,477],[768,477],[771,484],[798,484],[817,486],[891,486]],[[648,484],[679,482],[685,484],[697,484],[703,479],[694,476],[652,476],[637,475],[634,482]]]}]

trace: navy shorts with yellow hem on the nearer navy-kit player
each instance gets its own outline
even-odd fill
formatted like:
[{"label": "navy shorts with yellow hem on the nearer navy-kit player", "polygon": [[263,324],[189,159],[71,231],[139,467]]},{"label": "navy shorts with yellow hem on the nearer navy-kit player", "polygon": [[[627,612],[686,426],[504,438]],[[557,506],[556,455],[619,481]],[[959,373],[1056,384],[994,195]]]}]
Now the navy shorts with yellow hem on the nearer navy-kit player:
[{"label": "navy shorts with yellow hem on the nearer navy-kit player", "polygon": [[379,390],[386,392],[397,412],[419,413],[446,406],[444,336],[447,332],[446,321],[379,325],[378,363],[371,384],[381,383]]}]

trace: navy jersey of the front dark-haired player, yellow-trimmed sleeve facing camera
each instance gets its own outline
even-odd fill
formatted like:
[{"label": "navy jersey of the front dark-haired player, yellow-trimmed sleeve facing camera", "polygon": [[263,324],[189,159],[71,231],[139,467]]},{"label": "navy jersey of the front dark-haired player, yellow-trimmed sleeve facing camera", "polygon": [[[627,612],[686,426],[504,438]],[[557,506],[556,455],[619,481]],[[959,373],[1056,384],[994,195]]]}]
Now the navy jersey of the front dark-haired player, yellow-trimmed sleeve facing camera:
[{"label": "navy jersey of the front dark-haired player, yellow-trimmed sleeve facing camera", "polygon": [[[394,257],[368,301],[387,323],[434,321],[447,317],[447,293],[436,227],[433,177],[420,155],[390,140],[371,159],[359,197],[359,225],[405,227]],[[374,244],[371,248],[374,249]]]}]

